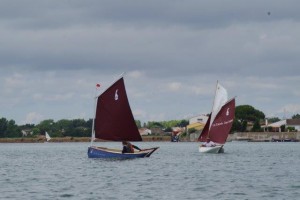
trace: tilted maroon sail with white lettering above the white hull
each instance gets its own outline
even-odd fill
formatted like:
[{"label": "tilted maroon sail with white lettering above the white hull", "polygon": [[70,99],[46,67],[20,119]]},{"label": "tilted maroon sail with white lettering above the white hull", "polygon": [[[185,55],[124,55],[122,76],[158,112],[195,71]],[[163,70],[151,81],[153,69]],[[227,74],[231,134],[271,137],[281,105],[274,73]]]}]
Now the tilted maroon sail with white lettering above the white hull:
[{"label": "tilted maroon sail with white lettering above the white hull", "polygon": [[231,99],[222,106],[215,120],[211,124],[208,137],[211,141],[225,144],[230,129],[232,127],[235,113],[235,99]]}]

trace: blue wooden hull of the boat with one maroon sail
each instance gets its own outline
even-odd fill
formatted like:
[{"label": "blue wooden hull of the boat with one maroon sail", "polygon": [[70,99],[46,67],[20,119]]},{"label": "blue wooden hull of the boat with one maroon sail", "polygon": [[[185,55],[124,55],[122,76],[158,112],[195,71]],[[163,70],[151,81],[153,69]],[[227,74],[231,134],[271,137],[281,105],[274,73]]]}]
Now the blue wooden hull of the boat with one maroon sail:
[{"label": "blue wooden hull of the boat with one maroon sail", "polygon": [[150,157],[151,154],[156,151],[159,147],[150,149],[142,149],[134,153],[122,153],[118,149],[109,149],[105,147],[91,146],[88,148],[89,158],[116,158],[116,159],[131,159],[131,158],[145,158]]}]

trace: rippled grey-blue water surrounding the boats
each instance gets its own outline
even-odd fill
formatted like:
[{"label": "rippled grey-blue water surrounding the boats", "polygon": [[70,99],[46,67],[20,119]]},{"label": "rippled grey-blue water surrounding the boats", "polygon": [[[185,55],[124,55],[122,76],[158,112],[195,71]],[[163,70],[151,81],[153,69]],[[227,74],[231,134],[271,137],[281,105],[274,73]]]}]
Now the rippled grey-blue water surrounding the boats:
[{"label": "rippled grey-blue water surrounding the boats", "polygon": [[[300,143],[160,146],[150,158],[87,158],[89,143],[0,144],[0,199],[299,199]],[[121,147],[119,143],[100,146]]]}]

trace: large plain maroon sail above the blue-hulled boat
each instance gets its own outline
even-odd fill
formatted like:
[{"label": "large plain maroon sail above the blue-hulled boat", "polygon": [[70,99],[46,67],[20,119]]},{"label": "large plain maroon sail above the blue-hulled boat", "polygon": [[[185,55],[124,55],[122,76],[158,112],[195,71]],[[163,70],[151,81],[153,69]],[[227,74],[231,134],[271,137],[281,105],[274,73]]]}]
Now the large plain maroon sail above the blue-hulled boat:
[{"label": "large plain maroon sail above the blue-hulled boat", "polygon": [[97,99],[95,137],[111,141],[141,141],[121,77]]}]

